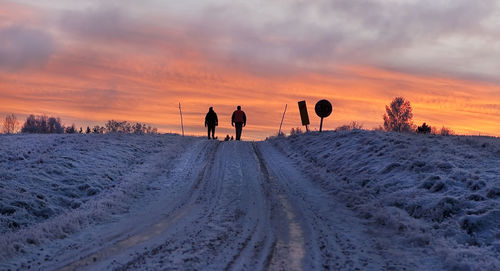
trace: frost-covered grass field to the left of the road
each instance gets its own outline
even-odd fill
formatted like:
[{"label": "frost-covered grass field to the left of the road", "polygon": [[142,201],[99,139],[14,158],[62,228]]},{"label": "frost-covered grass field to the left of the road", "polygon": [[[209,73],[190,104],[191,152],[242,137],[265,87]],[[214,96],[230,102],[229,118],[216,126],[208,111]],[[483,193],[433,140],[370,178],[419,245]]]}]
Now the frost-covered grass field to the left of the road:
[{"label": "frost-covered grass field to the left of the road", "polygon": [[0,136],[0,259],[125,212],[193,138]]}]

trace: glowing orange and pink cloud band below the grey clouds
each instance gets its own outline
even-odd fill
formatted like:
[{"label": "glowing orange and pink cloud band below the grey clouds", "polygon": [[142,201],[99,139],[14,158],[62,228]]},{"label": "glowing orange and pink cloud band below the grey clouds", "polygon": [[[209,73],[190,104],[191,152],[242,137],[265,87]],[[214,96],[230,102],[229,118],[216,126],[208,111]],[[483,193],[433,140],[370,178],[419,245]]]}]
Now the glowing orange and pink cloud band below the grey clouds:
[{"label": "glowing orange and pink cloud band below the grey clouds", "polygon": [[[16,14],[35,16],[27,11]],[[169,27],[130,25],[113,12],[93,18],[100,22],[110,14],[123,25],[88,28],[86,17],[62,16],[74,32],[64,27],[49,31],[58,33],[53,34],[57,50],[43,67],[0,70],[0,113],[56,115],[77,126],[108,119],[141,121],[162,132],[180,132],[181,102],[188,134],[205,134],[203,118],[214,106],[220,120],[217,131],[223,137],[234,134],[230,116],[242,105],[248,116],[244,138],[263,139],[277,133],[285,104],[285,132],[301,126],[299,100],[307,101],[311,128],[318,128],[314,104],[323,98],[334,106],[326,129],[350,121],[373,128],[382,124],[385,105],[404,96],[412,102],[417,124],[425,121],[458,133],[500,136],[500,85],[494,83],[346,61],[309,66],[294,59],[289,65],[262,57],[254,61],[218,48],[232,42],[228,37],[215,39],[175,21],[169,21]],[[1,18],[5,12],[0,12]],[[276,40],[279,37],[271,39]]]}]

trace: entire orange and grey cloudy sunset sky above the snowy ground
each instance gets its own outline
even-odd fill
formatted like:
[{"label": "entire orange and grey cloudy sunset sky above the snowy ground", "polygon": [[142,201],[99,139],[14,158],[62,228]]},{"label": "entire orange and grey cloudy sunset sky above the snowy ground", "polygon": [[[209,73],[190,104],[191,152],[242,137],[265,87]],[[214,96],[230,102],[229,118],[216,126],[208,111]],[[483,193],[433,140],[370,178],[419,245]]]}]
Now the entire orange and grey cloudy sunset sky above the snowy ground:
[{"label": "entire orange and grey cloudy sunset sky above the snowy ground", "polygon": [[328,99],[326,129],[374,128],[395,96],[414,122],[500,136],[497,0],[0,0],[0,117],[59,116],[243,139],[300,126],[297,102]]}]

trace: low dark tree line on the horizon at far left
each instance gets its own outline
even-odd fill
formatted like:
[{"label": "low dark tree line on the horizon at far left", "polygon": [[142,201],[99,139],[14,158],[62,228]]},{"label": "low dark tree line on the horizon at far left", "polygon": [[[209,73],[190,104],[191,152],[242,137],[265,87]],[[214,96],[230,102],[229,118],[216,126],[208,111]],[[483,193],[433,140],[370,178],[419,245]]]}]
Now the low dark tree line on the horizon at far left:
[{"label": "low dark tree line on the horizon at far left", "polygon": [[123,133],[123,134],[157,134],[158,129],[140,122],[116,121],[108,120],[104,126],[95,125],[87,126],[84,130],[80,127],[79,130],[75,125],[65,126],[60,118],[48,117],[45,115],[29,115],[26,121],[19,125],[14,114],[9,114],[5,117],[2,125],[4,134],[108,134],[108,133]]}]

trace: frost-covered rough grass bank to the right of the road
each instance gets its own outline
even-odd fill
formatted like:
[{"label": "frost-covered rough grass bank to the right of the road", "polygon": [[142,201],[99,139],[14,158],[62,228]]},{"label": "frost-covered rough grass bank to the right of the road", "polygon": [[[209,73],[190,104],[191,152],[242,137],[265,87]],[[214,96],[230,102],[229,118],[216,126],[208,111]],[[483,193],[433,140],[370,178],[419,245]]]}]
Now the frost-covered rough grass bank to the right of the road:
[{"label": "frost-covered rough grass bank to the right of the road", "polygon": [[453,270],[500,268],[500,139],[354,130],[270,142],[375,234]]}]

